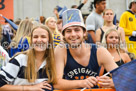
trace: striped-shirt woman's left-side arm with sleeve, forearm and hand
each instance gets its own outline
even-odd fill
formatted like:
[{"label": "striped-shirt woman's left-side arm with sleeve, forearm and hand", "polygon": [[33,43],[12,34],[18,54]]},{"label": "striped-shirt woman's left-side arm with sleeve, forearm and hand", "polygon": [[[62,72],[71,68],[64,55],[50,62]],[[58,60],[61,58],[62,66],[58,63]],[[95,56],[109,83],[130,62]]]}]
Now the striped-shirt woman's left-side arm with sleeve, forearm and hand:
[{"label": "striped-shirt woman's left-side arm with sleeve, forearm and hand", "polygon": [[43,81],[33,86],[9,85],[10,83],[14,84],[14,80],[18,77],[18,73],[22,67],[20,61],[19,58],[12,58],[9,63],[2,68],[2,71],[0,71],[0,91],[34,91],[42,90],[42,88],[51,89],[51,86],[47,83],[47,81]]}]

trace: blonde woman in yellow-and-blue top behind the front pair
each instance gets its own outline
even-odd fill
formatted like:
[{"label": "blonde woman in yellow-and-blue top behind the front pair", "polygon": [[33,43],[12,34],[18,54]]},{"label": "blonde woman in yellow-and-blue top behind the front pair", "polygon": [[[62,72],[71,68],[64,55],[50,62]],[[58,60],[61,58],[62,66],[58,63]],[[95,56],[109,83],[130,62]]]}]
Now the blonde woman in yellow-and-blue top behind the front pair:
[{"label": "blonde woman in yellow-and-blue top behind the front pair", "polygon": [[58,31],[56,19],[54,17],[48,17],[45,21],[45,25],[47,25],[51,30],[54,47],[56,47],[61,41],[61,34]]}]

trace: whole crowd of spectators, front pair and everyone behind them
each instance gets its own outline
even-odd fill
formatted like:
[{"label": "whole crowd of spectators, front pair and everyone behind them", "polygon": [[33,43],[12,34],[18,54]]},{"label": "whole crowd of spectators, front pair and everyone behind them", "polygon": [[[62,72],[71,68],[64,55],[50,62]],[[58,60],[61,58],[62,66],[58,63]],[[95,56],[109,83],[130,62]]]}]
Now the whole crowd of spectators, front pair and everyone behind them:
[{"label": "whole crowd of spectators, front pair and everyone behind them", "polygon": [[106,0],[94,0],[93,11],[82,17],[86,3],[55,7],[55,17],[38,21],[0,23],[0,91],[116,89],[112,75],[103,75],[135,59],[136,0],[116,24]]}]

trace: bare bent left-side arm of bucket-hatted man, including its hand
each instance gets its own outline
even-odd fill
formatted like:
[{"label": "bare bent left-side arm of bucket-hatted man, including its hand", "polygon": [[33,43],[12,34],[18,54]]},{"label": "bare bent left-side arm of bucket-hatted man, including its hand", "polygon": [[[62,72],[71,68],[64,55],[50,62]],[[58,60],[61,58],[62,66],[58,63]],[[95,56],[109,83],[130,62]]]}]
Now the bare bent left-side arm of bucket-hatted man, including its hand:
[{"label": "bare bent left-side arm of bucket-hatted man, including its hand", "polygon": [[91,88],[94,85],[96,85],[97,79],[95,77],[89,77],[85,80],[63,79],[66,55],[67,54],[65,48],[60,48],[60,45],[58,45],[55,48],[57,84],[54,85],[54,88],[57,89],[75,89],[83,87]]}]

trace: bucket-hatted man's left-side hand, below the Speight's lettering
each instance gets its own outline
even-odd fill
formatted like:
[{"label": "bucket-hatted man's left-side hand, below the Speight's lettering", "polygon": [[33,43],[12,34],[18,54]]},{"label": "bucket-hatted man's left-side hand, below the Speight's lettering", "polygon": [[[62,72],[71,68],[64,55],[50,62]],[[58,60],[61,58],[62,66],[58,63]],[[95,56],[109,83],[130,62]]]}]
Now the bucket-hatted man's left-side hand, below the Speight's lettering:
[{"label": "bucket-hatted man's left-side hand, below the Speight's lettering", "polygon": [[82,87],[83,88],[92,88],[94,87],[95,85],[97,85],[97,79],[93,76],[87,78],[87,79],[84,79],[81,83]]}]

